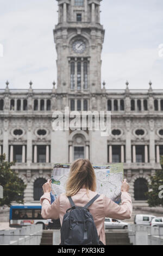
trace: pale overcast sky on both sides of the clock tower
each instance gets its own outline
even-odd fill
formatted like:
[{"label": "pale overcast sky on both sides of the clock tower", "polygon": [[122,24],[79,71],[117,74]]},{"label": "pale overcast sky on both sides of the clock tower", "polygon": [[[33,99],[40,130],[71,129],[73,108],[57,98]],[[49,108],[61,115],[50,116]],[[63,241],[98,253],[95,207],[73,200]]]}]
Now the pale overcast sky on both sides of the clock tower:
[{"label": "pale overcast sky on both sides of the clock tower", "polygon": [[[0,88],[52,88],[57,81],[53,29],[58,22],[55,0],[0,0]],[[103,0],[105,29],[102,82],[108,89],[163,89],[162,0]]]}]

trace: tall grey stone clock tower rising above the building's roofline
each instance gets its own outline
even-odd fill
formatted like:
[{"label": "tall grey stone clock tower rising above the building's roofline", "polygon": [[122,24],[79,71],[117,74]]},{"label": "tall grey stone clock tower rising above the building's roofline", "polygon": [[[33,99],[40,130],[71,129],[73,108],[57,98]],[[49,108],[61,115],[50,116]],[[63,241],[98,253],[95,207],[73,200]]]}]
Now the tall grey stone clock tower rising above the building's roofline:
[{"label": "tall grey stone clock tower rising above the building's roofline", "polygon": [[57,0],[58,93],[100,93],[104,29],[100,23],[102,0]]}]

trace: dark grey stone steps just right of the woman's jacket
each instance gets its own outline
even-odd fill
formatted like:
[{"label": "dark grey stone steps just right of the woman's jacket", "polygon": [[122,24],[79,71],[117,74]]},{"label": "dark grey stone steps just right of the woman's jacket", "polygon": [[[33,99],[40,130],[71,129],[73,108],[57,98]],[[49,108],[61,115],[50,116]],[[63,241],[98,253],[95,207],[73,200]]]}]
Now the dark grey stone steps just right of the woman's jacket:
[{"label": "dark grey stone steps just right of the woman's jacket", "polygon": [[127,230],[110,229],[105,233],[106,245],[132,245]]}]

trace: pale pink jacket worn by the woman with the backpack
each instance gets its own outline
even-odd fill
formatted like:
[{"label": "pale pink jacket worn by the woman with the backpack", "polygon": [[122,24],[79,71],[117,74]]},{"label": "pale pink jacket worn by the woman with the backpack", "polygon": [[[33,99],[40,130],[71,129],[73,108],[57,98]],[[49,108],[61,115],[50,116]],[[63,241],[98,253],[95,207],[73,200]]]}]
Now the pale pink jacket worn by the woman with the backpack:
[{"label": "pale pink jacket worn by the woman with the backpack", "polygon": [[[97,192],[92,192],[89,190],[89,197],[86,193],[86,188],[81,188],[77,194],[75,194],[72,199],[74,204],[78,206],[86,205],[93,197],[95,197]],[[121,196],[122,205],[117,205],[112,202],[111,199],[104,196],[103,194],[89,207],[90,213],[95,221],[98,235],[100,240],[105,245],[105,228],[104,220],[105,217],[114,218],[117,220],[125,220],[131,217],[133,206],[131,202],[130,194],[127,192],[122,192]],[[57,220],[60,218],[62,225],[62,220],[66,213],[66,210],[71,208],[70,202],[66,197],[65,193],[60,194],[60,196],[51,205],[50,193],[45,193],[40,198],[40,203],[42,205],[41,215],[45,219],[52,218]]]}]

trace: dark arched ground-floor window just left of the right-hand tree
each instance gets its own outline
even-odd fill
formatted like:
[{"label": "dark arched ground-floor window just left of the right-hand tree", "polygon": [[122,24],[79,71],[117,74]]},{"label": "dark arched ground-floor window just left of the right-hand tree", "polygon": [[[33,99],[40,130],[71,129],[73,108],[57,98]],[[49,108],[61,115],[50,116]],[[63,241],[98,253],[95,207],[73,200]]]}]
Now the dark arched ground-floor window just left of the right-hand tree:
[{"label": "dark arched ground-floor window just left of the right-hand tree", "polygon": [[139,178],[134,183],[134,198],[136,201],[147,200],[148,182],[146,179]]}]

